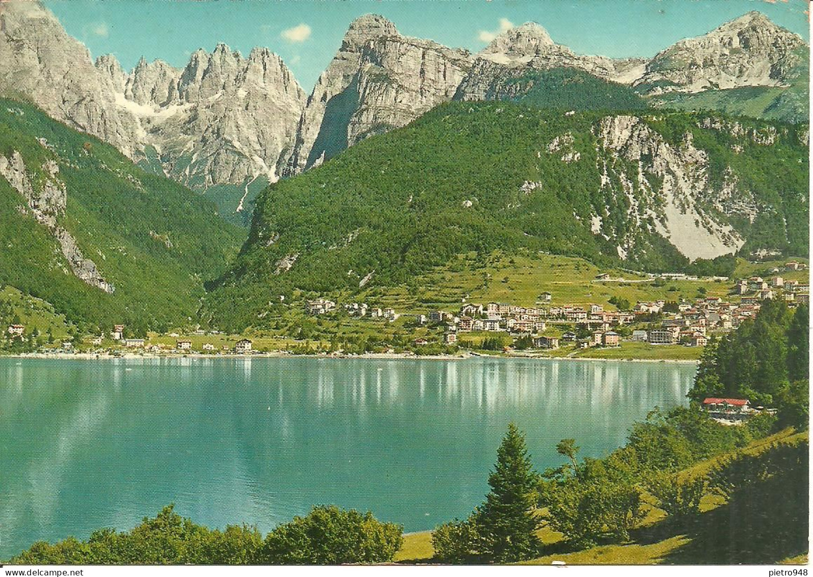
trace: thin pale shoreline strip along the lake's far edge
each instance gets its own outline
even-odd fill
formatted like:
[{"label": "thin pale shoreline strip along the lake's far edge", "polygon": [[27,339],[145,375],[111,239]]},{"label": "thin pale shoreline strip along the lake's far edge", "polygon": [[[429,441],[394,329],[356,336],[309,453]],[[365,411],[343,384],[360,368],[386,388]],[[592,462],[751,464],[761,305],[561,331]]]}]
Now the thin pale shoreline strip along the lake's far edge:
[{"label": "thin pale shoreline strip along the lake's far edge", "polygon": [[0,358],[33,358],[41,360],[57,360],[57,361],[109,361],[116,359],[133,360],[133,359],[252,359],[252,358],[323,358],[323,359],[362,359],[362,360],[389,360],[389,361],[403,361],[403,360],[417,360],[417,361],[465,361],[472,358],[488,358],[488,359],[505,359],[505,360],[532,360],[532,361],[579,361],[579,362],[667,362],[677,364],[692,364],[698,365],[699,360],[680,359],[680,358],[585,358],[585,357],[546,357],[546,356],[532,356],[532,355],[491,355],[491,354],[463,354],[463,355],[415,355],[415,354],[401,354],[401,353],[367,353],[360,355],[329,355],[329,354],[290,354],[286,351],[273,351],[269,353],[256,353],[256,354],[102,354],[102,353],[21,353],[21,354],[4,354]]}]

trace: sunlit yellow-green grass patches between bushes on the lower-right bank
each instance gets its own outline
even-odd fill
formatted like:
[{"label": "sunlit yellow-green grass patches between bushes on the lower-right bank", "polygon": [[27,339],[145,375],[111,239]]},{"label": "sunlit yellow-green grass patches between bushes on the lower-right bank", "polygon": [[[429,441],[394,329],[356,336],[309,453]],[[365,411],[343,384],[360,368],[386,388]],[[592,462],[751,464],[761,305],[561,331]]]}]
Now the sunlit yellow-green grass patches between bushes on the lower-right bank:
[{"label": "sunlit yellow-green grass patches between bushes on the lower-right bank", "polygon": [[[809,438],[809,432],[793,432],[792,429],[778,432],[775,435],[764,439],[754,440],[746,448],[741,449],[744,453],[759,454],[767,449],[772,443],[781,442],[795,444]],[[693,478],[697,475],[705,475],[708,471],[728,456],[734,453],[718,455],[715,458],[699,462],[683,471],[685,478]],[[647,517],[641,523],[642,527],[636,531],[634,540],[629,544],[613,544],[593,547],[582,551],[568,553],[551,553],[544,557],[539,557],[533,561],[526,562],[528,565],[550,565],[554,561],[563,561],[569,565],[651,565],[658,563],[676,563],[691,565],[720,564],[724,557],[720,557],[720,551],[708,549],[704,550],[702,542],[702,528],[706,531],[714,531],[715,527],[721,531],[728,531],[724,527],[725,515],[721,515],[724,507],[720,506],[719,499],[715,497],[704,497],[701,505],[701,522],[698,523],[701,530],[696,534],[692,531],[670,531],[667,520],[664,520],[663,512],[650,507]],[[715,513],[716,511],[716,513]],[[540,539],[545,544],[556,544],[561,540],[561,536],[550,529],[543,527],[539,531]],[[638,539],[636,539],[636,537]],[[761,553],[768,553],[762,551]],[[395,556],[395,561],[402,563],[426,563],[431,562],[434,555],[432,548],[432,532],[421,531],[404,536],[402,548]],[[777,557],[771,562],[791,562],[806,563],[806,553],[802,552],[776,552]],[[767,562],[763,559],[759,561],[750,560],[747,553],[743,553],[741,562]]]}]

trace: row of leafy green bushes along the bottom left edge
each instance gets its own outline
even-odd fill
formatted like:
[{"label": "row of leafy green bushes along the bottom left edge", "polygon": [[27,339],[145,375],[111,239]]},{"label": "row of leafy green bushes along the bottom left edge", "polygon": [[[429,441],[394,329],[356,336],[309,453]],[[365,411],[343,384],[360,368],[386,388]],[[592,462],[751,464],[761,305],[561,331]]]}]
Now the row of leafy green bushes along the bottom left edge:
[{"label": "row of leafy green bushes along the bottom left edge", "polygon": [[211,530],[182,518],[173,505],[132,531],[99,529],[86,541],[40,541],[11,559],[21,565],[335,565],[392,561],[402,527],[371,513],[315,507],[268,533],[230,525]]}]

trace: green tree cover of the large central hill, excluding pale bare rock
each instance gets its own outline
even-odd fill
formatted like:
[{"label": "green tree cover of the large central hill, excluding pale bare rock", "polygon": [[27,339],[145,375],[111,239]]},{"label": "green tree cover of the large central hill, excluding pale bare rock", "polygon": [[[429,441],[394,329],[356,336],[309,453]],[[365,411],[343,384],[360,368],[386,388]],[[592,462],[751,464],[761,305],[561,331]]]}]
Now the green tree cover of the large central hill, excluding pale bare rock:
[{"label": "green tree cover of the large central hill, excluding pale bare rock", "polygon": [[[364,280],[366,286],[389,288],[472,251],[543,250],[638,270],[688,267],[688,259],[662,236],[630,226],[620,176],[618,182],[611,176],[612,191],[602,190],[592,131],[606,114],[565,116],[508,102],[452,103],[273,184],[258,198],[249,240],[210,295],[209,312],[216,323],[245,328],[258,314],[272,315],[269,309],[280,295],[290,302],[294,289],[353,292]],[[806,164],[797,163],[807,155],[796,135],[802,128],[778,125],[783,135],[778,143],[759,146],[750,137],[737,140],[698,128],[705,116],[642,118],[674,146],[692,132],[694,145],[709,155],[715,187],[731,167],[743,189],[773,207],[753,223],[736,223],[749,238],[746,249],[765,244],[806,251],[807,209],[797,198],[807,189]],[[547,148],[564,134],[573,137],[576,162],[563,162],[562,152]],[[740,154],[732,149],[735,143]],[[637,176],[637,164],[621,158],[612,164],[614,171]],[[781,182],[773,176],[780,173]],[[524,191],[526,181],[541,186]],[[635,187],[635,194],[646,196]],[[590,225],[591,215],[607,210],[603,222],[615,235],[610,240],[593,234]],[[786,226],[776,219],[780,213]],[[621,237],[636,238],[637,249],[625,262],[616,248]]]}]

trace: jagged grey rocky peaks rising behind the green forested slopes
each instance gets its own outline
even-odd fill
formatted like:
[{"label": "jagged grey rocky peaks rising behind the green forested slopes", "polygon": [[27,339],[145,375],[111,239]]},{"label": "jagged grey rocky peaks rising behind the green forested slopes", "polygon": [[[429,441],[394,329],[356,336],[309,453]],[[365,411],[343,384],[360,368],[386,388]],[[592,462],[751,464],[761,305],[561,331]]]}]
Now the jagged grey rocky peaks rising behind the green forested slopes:
[{"label": "jagged grey rocky peaks rising behind the green forested slopes", "polygon": [[220,44],[195,51],[183,69],[142,59],[125,72],[109,54],[93,61],[38,2],[0,5],[0,50],[9,55],[0,61],[0,93],[206,193],[241,223],[250,220],[259,191],[280,177],[443,102],[517,100],[561,88],[556,74],[559,84],[550,83],[551,71],[625,89],[622,102],[641,97],[652,106],[808,116],[809,46],[756,11],[651,59],[576,54],[534,23],[472,54],[402,36],[389,20],[364,15],[350,24],[309,96],[267,48],[244,57]]}]

